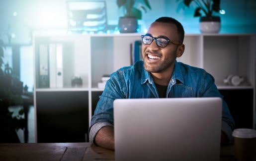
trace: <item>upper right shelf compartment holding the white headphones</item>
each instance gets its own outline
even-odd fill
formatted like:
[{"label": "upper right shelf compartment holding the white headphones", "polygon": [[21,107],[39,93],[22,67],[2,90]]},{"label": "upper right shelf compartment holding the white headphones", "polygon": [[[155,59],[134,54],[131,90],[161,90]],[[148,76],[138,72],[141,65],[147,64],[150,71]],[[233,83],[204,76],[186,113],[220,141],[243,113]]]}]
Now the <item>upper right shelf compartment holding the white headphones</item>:
[{"label": "upper right shelf compartment holding the white headphones", "polygon": [[230,74],[244,76],[254,84],[254,55],[251,35],[220,35],[203,37],[203,68],[213,75],[216,84]]}]

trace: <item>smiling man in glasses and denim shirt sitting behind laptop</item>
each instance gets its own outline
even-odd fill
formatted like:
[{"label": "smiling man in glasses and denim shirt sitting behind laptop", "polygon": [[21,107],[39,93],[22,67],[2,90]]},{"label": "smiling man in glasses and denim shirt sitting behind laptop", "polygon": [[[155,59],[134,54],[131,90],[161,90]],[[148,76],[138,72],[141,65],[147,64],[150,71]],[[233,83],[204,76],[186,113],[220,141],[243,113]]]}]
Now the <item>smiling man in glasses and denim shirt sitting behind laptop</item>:
[{"label": "smiling man in glasses and denim shirt sitting behind laptop", "polygon": [[[183,39],[182,25],[171,17],[161,17],[151,24],[142,36],[143,61],[117,70],[107,81],[91,118],[90,142],[114,150],[115,99],[222,97],[209,73],[176,61],[185,49]],[[232,142],[234,126],[223,101],[222,143]]]}]

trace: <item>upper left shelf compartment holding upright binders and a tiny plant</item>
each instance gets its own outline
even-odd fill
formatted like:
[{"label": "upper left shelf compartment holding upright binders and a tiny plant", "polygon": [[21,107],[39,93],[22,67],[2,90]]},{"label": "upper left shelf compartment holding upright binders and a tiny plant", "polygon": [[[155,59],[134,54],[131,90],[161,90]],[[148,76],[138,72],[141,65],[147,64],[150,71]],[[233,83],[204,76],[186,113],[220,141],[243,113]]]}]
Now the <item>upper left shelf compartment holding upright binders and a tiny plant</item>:
[{"label": "upper left shelf compartment holding upright binders and a tiny plant", "polygon": [[[35,37],[35,76],[36,76],[36,88],[50,88],[51,80],[50,77],[53,76],[50,70],[53,68],[50,66],[50,46],[51,45],[61,45],[62,46],[62,75],[63,75],[63,85],[59,88],[72,88],[71,82],[75,76],[81,77],[83,80],[83,87],[88,88],[88,75],[89,75],[89,50],[88,42],[89,37],[85,36],[56,36],[56,37]],[[48,60],[48,85],[41,86],[40,83],[40,45],[46,46],[46,51],[44,54],[48,54],[46,57]],[[42,55],[44,55],[42,54]],[[56,52],[57,54],[57,52]],[[58,58],[56,58],[58,62]],[[53,64],[56,65],[56,64]],[[58,70],[58,67],[56,67]],[[57,73],[54,74],[57,76]],[[46,74],[47,76],[47,74]],[[58,81],[57,81],[58,82]],[[57,85],[58,83],[56,83]],[[74,87],[76,88],[76,87]]]}]

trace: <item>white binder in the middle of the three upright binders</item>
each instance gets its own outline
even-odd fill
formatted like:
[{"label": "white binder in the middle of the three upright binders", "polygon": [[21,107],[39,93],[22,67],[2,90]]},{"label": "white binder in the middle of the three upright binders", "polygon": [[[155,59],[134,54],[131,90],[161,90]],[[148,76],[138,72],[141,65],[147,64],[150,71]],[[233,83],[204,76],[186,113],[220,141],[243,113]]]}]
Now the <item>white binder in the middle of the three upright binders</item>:
[{"label": "white binder in the middle of the three upright binders", "polygon": [[49,44],[50,88],[57,87],[56,44]]}]

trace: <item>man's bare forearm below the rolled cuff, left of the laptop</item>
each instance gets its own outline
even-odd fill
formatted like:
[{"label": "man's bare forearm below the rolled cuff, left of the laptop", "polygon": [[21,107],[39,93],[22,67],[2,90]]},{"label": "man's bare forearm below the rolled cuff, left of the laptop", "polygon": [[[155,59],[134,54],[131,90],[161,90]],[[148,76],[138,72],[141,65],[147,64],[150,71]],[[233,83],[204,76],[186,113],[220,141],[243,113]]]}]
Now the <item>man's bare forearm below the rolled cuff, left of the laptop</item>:
[{"label": "man's bare forearm below the rolled cuff, left of the laptop", "polygon": [[104,126],[102,127],[95,137],[95,143],[103,148],[114,151],[114,127],[113,126]]}]

